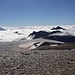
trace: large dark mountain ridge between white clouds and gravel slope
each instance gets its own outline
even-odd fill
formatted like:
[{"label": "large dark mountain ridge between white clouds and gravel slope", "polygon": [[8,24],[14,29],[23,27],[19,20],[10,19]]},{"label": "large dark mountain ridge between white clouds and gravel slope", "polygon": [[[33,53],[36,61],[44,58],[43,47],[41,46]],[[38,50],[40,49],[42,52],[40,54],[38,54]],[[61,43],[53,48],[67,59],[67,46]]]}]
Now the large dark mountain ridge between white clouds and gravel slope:
[{"label": "large dark mountain ridge between white clouds and gravel slope", "polygon": [[[58,27],[60,28],[60,27]],[[61,31],[52,31],[52,32],[46,32],[46,31],[39,31],[39,32],[33,32],[29,36],[32,36],[33,39],[36,38],[44,38],[44,39],[52,39],[57,40],[61,42],[75,42],[75,36],[72,35],[52,35],[56,33],[62,33]]]}]

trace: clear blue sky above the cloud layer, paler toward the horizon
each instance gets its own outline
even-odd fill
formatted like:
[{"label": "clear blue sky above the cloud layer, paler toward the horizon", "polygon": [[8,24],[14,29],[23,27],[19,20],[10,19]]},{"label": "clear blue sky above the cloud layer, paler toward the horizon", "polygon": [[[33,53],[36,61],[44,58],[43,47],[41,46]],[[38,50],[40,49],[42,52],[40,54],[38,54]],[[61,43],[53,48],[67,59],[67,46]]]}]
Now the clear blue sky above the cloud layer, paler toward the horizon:
[{"label": "clear blue sky above the cloud layer, paler toward the horizon", "polygon": [[75,0],[0,0],[0,25],[74,25]]}]

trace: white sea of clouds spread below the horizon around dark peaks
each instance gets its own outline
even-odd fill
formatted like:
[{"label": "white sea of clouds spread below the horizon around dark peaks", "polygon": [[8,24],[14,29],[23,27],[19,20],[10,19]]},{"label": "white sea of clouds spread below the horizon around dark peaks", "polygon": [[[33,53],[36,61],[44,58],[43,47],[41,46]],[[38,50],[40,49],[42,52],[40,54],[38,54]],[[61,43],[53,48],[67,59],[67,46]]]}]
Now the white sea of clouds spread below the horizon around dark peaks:
[{"label": "white sea of clouds spread below the horizon around dark peaks", "polygon": [[[75,36],[74,25],[62,25],[62,26],[18,26],[18,27],[0,27],[0,42],[16,41],[25,38],[26,40],[32,39],[33,36],[29,36],[31,33],[45,31],[51,33],[51,35],[72,35]],[[39,34],[38,34],[39,35]],[[42,34],[41,34],[42,35]]]}]

